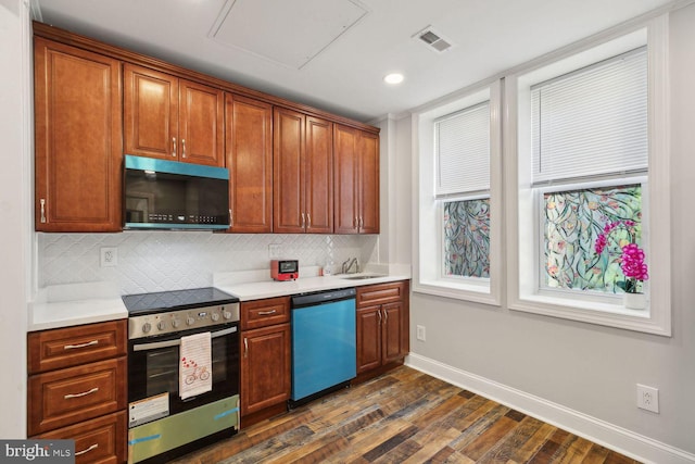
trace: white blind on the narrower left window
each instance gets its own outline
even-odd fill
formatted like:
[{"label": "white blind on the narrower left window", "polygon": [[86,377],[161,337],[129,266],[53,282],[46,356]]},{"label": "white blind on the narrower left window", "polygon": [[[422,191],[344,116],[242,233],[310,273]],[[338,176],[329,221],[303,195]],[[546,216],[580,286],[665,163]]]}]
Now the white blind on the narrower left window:
[{"label": "white blind on the narrower left window", "polygon": [[434,122],[435,195],[490,190],[490,102]]}]

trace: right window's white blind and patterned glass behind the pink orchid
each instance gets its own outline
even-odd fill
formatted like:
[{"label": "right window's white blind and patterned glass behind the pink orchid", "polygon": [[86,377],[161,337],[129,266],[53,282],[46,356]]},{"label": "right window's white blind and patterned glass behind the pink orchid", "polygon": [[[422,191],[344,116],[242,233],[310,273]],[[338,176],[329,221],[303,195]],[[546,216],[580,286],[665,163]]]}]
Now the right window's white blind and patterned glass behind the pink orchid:
[{"label": "right window's white blind and patterned glass behind the pink orchid", "polygon": [[[642,244],[642,185],[621,184],[648,172],[646,48],[534,85],[531,105],[540,290],[622,292],[619,247],[597,254],[593,243],[606,225],[630,221]],[[589,187],[598,179],[606,187]]]}]

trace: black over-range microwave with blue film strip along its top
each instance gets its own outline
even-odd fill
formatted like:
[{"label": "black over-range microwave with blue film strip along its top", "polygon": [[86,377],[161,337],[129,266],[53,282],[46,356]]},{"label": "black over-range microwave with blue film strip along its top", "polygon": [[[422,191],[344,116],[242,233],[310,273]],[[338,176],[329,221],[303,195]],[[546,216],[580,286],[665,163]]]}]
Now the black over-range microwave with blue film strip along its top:
[{"label": "black over-range microwave with blue film strip along its top", "polygon": [[125,155],[124,228],[229,228],[229,170]]}]

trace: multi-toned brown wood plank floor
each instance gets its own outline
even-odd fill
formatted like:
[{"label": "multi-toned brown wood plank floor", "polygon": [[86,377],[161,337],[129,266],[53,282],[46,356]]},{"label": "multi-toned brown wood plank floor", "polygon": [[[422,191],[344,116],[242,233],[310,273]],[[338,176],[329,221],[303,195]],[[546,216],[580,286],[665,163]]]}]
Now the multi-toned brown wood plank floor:
[{"label": "multi-toned brown wood plank floor", "polygon": [[401,366],[243,429],[176,464],[636,463]]}]

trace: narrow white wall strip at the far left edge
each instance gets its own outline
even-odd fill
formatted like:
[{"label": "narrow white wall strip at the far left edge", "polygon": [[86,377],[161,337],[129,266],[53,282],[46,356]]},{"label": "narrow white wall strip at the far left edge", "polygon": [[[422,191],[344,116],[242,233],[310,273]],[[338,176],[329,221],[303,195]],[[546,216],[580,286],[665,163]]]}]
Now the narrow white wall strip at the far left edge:
[{"label": "narrow white wall strip at the far left edge", "polygon": [[26,436],[30,74],[28,12],[0,0],[0,438]]}]

